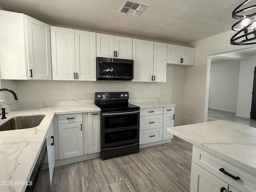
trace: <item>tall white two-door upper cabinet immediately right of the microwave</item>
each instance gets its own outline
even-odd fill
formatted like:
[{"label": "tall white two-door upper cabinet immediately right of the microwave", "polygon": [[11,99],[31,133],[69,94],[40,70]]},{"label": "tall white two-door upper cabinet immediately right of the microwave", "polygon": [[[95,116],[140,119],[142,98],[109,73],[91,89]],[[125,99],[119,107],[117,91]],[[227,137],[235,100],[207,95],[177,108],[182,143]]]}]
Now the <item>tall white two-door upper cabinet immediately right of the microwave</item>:
[{"label": "tall white two-door upper cabinet immediately right of the microwave", "polygon": [[166,82],[167,44],[133,39],[134,78],[140,82]]}]

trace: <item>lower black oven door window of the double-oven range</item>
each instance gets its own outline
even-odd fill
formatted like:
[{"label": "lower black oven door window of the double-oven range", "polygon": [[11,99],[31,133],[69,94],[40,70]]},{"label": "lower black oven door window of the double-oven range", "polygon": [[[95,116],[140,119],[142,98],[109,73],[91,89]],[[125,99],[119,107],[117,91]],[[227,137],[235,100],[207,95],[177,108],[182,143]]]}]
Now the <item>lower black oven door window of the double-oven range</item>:
[{"label": "lower black oven door window of the double-oven range", "polygon": [[130,130],[121,130],[113,132],[105,132],[105,144],[124,142],[138,138],[138,128]]}]

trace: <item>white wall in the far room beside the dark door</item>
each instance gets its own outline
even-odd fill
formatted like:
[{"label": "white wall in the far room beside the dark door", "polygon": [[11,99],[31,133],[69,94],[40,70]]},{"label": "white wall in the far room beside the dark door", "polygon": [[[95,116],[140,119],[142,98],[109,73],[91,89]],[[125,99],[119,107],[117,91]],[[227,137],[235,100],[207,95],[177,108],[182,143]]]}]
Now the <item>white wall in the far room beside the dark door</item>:
[{"label": "white wall in the far room beside the dark door", "polygon": [[241,61],[236,116],[250,118],[255,66],[256,55],[251,60]]}]

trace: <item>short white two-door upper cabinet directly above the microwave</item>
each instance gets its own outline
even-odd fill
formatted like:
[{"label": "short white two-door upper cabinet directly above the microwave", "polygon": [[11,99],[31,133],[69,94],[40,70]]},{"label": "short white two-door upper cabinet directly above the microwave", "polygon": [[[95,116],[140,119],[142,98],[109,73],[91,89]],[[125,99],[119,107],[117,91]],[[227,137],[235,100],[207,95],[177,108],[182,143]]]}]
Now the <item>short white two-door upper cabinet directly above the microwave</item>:
[{"label": "short white two-door upper cabinet directly above the microwave", "polygon": [[97,33],[97,57],[132,59],[132,38]]}]

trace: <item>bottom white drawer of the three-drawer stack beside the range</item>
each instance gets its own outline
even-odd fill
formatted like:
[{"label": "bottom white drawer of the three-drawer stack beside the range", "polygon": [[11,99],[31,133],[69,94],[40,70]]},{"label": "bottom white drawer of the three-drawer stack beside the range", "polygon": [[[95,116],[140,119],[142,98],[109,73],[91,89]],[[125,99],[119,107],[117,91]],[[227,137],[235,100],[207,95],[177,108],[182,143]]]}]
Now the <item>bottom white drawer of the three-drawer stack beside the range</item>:
[{"label": "bottom white drawer of the three-drawer stack beside the range", "polygon": [[140,144],[162,141],[163,129],[156,128],[140,131]]}]

